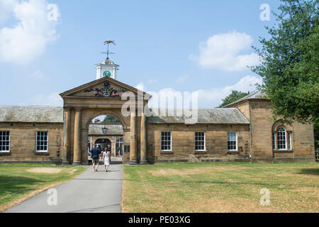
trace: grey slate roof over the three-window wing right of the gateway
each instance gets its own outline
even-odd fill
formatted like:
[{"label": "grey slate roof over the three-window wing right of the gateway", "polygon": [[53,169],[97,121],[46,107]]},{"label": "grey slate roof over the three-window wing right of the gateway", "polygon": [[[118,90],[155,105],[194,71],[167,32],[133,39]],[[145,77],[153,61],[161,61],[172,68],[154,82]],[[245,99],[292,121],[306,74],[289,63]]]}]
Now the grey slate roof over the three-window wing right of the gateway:
[{"label": "grey slate roof over the three-window wing right of the gateway", "polygon": [[[172,109],[171,109],[172,110]],[[158,109],[152,109],[157,116],[147,118],[148,123],[185,123],[186,118],[177,115],[177,109],[174,109],[174,116],[162,116]],[[171,114],[172,115],[172,114]],[[247,118],[236,108],[215,108],[215,109],[198,109],[198,119],[196,123],[250,123]]]}]

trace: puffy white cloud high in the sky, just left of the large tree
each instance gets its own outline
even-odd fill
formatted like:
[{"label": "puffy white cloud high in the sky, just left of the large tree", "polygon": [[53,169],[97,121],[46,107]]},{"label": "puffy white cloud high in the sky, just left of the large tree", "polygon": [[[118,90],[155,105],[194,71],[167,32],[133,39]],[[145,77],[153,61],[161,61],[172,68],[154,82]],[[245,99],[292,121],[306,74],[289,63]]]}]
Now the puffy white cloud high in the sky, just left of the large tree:
[{"label": "puffy white cloud high in the sky, just left of the large tree", "polygon": [[190,59],[202,67],[215,68],[229,72],[247,69],[247,66],[257,65],[259,57],[256,53],[242,54],[249,50],[252,37],[245,33],[233,31],[213,35],[199,45],[199,55],[191,55]]}]

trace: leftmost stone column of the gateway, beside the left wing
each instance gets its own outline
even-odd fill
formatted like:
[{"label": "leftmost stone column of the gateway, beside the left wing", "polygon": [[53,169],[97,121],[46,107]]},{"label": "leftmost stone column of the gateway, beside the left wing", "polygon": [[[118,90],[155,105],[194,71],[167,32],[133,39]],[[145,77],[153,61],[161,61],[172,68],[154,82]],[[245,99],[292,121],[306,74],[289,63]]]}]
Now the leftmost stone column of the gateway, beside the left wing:
[{"label": "leftmost stone column of the gateway, beside the left wing", "polygon": [[62,165],[69,165],[69,126],[70,126],[70,109],[65,108],[63,114],[63,150]]}]

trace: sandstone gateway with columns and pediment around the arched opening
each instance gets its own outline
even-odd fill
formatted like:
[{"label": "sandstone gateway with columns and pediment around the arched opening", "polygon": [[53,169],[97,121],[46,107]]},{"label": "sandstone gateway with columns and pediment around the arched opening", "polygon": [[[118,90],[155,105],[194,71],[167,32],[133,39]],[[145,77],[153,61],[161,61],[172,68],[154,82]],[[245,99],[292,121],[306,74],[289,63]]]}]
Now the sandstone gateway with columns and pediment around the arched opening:
[{"label": "sandstone gateway with columns and pediment around the arched opening", "polygon": [[[138,94],[142,94],[142,98]],[[60,96],[64,101],[62,164],[88,163],[88,148],[94,144],[89,138],[89,126],[98,116],[113,116],[123,127],[123,141],[113,138],[113,155],[123,154],[124,164],[147,163],[146,117],[143,111],[150,99],[149,94],[116,79],[103,77],[63,92]]]}]

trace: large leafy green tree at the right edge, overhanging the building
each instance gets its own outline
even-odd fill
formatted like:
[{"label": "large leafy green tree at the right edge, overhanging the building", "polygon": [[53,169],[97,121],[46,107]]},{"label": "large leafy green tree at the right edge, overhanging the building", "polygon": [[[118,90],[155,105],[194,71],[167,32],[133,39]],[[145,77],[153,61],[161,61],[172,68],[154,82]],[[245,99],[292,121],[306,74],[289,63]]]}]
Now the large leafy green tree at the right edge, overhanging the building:
[{"label": "large leafy green tree at the right edge, overhanging the building", "polygon": [[261,64],[252,71],[263,78],[259,89],[272,101],[274,119],[313,123],[318,135],[319,0],[281,2],[274,13],[278,24],[266,27],[270,38],[259,38],[262,48],[253,47]]}]

